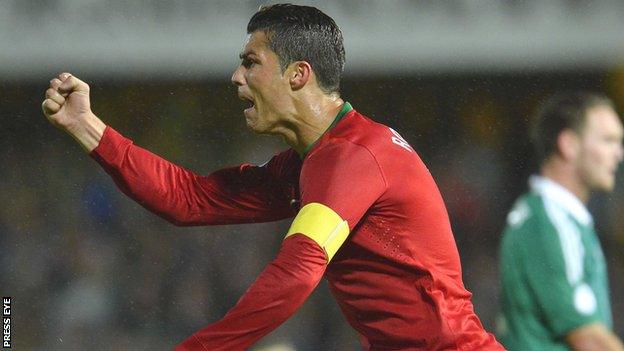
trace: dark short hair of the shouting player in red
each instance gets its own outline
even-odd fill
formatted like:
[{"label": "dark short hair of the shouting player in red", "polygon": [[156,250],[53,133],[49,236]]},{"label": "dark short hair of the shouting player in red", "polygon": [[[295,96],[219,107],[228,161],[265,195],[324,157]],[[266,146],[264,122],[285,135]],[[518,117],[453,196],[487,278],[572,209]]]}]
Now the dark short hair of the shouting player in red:
[{"label": "dark short hair of the shouting player in red", "polygon": [[340,90],[345,52],[342,32],[331,17],[311,6],[263,6],[247,24],[247,34],[256,31],[266,33],[282,72],[295,61],[306,61],[325,93]]}]

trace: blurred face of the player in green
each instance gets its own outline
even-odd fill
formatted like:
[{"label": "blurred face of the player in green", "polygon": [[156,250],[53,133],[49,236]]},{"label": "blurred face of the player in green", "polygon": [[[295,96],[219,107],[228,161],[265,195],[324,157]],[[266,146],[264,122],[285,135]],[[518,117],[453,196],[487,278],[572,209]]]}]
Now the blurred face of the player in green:
[{"label": "blurred face of the player in green", "polygon": [[612,108],[596,106],[587,111],[577,167],[588,189],[613,190],[615,172],[624,154],[623,133],[622,123]]}]

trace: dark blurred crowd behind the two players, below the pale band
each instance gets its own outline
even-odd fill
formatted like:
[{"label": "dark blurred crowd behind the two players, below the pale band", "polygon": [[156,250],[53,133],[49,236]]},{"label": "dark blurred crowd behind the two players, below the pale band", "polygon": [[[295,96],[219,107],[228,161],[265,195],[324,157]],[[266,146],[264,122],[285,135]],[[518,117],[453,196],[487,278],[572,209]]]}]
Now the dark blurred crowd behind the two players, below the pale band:
[{"label": "dark blurred crowd behind the two players, below the pale band", "polygon": [[[287,146],[247,131],[227,82],[90,81],[92,108],[152,152],[197,173],[261,164]],[[176,227],[126,198],[40,111],[47,81],[0,83],[0,293],[18,350],[169,350],[222,317],[274,257],[289,222]],[[535,164],[526,130],[551,93],[605,92],[624,74],[568,72],[348,77],[343,97],[399,131],[449,210],[464,282],[495,331],[500,232]],[[344,175],[357,177],[357,174]],[[624,176],[590,203],[624,334]],[[409,182],[410,179],[405,179]],[[415,238],[417,240],[417,238]],[[325,283],[256,349],[359,350]]]}]

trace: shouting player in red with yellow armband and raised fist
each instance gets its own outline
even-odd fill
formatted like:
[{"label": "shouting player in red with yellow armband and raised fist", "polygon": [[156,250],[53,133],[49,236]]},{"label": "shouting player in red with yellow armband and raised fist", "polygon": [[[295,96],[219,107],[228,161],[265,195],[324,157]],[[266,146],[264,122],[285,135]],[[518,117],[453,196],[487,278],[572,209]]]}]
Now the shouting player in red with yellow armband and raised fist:
[{"label": "shouting player in red with yellow armband and raised fist", "polygon": [[176,350],[242,350],[325,276],[367,350],[501,350],[473,311],[440,193],[412,147],[339,94],[342,34],[313,7],[251,18],[232,82],[256,133],[290,146],[261,166],[199,176],[133,145],[89,108],[89,87],[51,81],[43,110],[120,189],[178,225],[294,217],[277,257],[220,321]]}]

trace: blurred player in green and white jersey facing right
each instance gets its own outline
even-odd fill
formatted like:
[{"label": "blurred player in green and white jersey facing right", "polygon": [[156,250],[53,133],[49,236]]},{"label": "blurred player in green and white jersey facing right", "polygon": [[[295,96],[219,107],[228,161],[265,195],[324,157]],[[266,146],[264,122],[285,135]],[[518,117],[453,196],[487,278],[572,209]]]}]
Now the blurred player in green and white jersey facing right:
[{"label": "blurred player in green and white jersey facing right", "polygon": [[499,337],[512,351],[624,350],[585,207],[592,191],[613,189],[622,123],[606,97],[585,92],[555,95],[533,122],[541,166],[503,233]]}]

